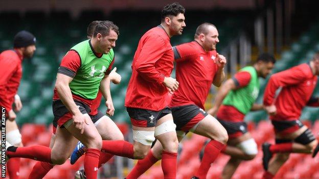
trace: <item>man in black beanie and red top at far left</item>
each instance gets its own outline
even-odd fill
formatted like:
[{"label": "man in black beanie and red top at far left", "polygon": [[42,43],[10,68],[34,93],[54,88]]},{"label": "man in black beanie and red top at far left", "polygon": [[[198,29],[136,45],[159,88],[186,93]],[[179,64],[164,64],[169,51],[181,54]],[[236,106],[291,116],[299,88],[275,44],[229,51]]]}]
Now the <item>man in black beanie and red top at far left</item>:
[{"label": "man in black beanie and red top at far left", "polygon": [[[14,146],[23,146],[14,113],[14,110],[20,111],[22,108],[20,97],[17,95],[22,77],[22,60],[32,58],[36,50],[35,42],[33,34],[20,31],[14,36],[13,49],[0,54],[0,107],[6,110],[6,141]],[[20,159],[9,160],[7,166],[9,177],[18,178]]]}]

